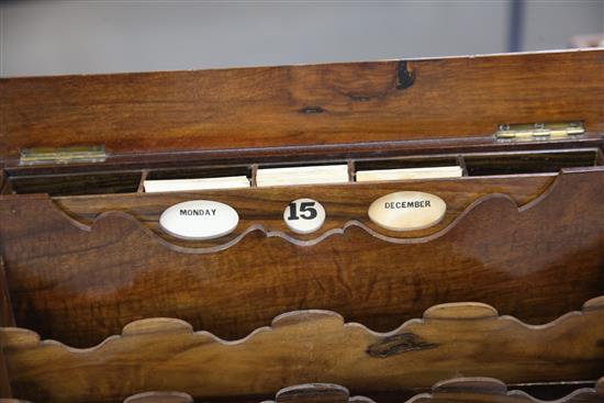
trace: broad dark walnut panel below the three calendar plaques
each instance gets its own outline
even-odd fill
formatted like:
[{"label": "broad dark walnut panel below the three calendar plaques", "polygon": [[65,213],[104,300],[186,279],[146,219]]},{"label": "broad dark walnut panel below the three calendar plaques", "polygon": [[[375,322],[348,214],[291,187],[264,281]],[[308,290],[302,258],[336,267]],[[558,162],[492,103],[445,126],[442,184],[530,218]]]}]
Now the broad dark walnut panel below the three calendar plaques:
[{"label": "broad dark walnut panel below the three calendar plaques", "polygon": [[[451,204],[468,200],[438,183],[435,193]],[[524,201],[543,189],[538,180],[513,183],[511,193]],[[309,191],[320,189],[332,188]],[[279,192],[276,200],[283,198]],[[346,199],[338,198],[353,193],[343,192],[324,192],[321,200],[342,203],[344,213]],[[304,244],[251,227],[220,251],[168,243],[128,210],[102,214],[90,227],[45,195],[0,198],[1,254],[16,324],[79,347],[154,316],[239,338],[297,309],[333,310],[384,331],[434,304],[479,301],[544,323],[604,290],[604,172],[596,168],[560,175],[519,210],[507,195],[483,198],[430,237],[385,237],[351,222]],[[258,219],[278,205],[280,220],[281,202],[257,204]]]}]

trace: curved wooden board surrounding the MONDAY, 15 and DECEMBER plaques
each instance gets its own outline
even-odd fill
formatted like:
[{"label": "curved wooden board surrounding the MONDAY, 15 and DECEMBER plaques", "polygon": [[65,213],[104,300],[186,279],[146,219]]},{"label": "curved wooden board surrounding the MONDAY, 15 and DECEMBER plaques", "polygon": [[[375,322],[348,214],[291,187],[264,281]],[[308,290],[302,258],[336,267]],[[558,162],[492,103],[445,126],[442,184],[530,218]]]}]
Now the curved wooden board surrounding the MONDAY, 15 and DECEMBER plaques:
[{"label": "curved wooden board surrounding the MONDAY, 15 and DECEMBER plaques", "polygon": [[[266,237],[284,239],[298,246],[315,246],[335,235],[344,235],[351,227],[361,228],[368,235],[392,244],[427,243],[449,233],[482,204],[507,202],[511,212],[521,214],[528,205],[538,205],[547,195],[553,192],[559,182],[563,181],[562,177],[568,175],[562,172],[559,176],[530,178],[524,184],[517,183],[517,180],[513,178],[502,179],[502,183],[497,183],[496,180],[494,183],[490,183],[483,178],[461,178],[459,182],[444,180],[430,182],[428,180],[426,183],[405,183],[405,189],[439,194],[449,204],[441,223],[426,230],[412,232],[387,231],[373,224],[367,216],[367,209],[374,199],[401,189],[401,183],[396,182],[381,183],[378,188],[372,183],[347,183],[309,189],[307,192],[317,193],[311,194],[313,198],[327,202],[329,209],[326,224],[316,234],[309,235],[291,232],[281,221],[283,206],[292,198],[295,199],[302,194],[295,188],[289,190],[287,188],[267,188],[223,190],[221,192],[180,192],[160,195],[144,194],[144,199],[141,198],[141,194],[115,194],[102,199],[97,197],[51,199],[45,194],[21,194],[13,198],[13,200],[19,204],[19,209],[31,210],[33,208],[38,210],[35,213],[30,211],[26,213],[27,215],[45,216],[45,220],[54,222],[53,225],[70,226],[83,232],[81,235],[90,234],[94,236],[99,233],[105,233],[111,227],[125,230],[127,226],[134,226],[135,231],[144,233],[155,243],[171,250],[187,254],[212,254],[237,245],[255,232]],[[508,189],[510,194],[502,193],[502,189],[505,188]],[[348,199],[357,202],[331,201],[333,193],[336,192],[342,193],[338,197],[339,200]],[[288,193],[292,194],[288,195]],[[261,194],[265,194],[267,199],[262,200]],[[358,200],[359,194],[363,194],[366,200]],[[216,239],[182,240],[159,230],[159,215],[166,208],[191,199],[215,200],[216,198],[234,206],[239,212],[244,211],[239,226],[232,234]],[[249,198],[260,199],[250,202],[247,201]],[[282,201],[277,202],[273,198],[282,198]],[[4,202],[10,203],[10,200],[7,199]],[[150,205],[144,203],[150,203]],[[261,212],[262,217],[257,219],[258,211],[251,214],[254,217],[246,217],[245,212],[249,213],[249,203],[265,205]],[[267,210],[266,205],[272,205],[273,209],[276,208],[279,211]],[[14,208],[12,209],[14,210]],[[94,211],[94,209],[98,209],[98,211]],[[149,209],[154,212],[149,213]],[[142,216],[145,216],[145,219],[143,220]]]}]

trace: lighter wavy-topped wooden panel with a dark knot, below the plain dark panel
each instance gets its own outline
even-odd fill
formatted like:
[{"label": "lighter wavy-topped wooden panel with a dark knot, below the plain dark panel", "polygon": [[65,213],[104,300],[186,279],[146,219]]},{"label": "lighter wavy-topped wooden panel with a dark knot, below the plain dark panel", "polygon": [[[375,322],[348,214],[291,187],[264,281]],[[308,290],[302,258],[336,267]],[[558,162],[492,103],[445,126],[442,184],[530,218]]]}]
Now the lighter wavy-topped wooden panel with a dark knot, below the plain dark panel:
[{"label": "lighter wavy-topped wooden panel with a dark knot, below the plain dark panel", "polygon": [[604,296],[540,326],[497,316],[485,304],[457,303],[433,306],[423,320],[388,333],[345,324],[334,312],[291,312],[236,342],[170,318],[133,322],[121,336],[87,349],[0,328],[15,395],[48,403],[166,388],[203,401],[235,399],[312,382],[371,398],[459,373],[506,383],[596,379],[604,371],[603,337]]}]

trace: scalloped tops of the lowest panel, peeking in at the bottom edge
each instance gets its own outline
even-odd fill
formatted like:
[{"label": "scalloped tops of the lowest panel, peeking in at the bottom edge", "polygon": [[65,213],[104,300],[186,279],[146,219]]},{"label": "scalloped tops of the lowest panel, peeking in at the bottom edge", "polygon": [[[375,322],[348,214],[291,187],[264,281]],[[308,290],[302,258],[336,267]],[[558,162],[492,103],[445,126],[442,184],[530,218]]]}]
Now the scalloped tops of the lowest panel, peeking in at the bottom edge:
[{"label": "scalloped tops of the lowest panel, peeking in at the bottom edge", "polygon": [[[374,400],[366,396],[350,396],[348,389],[339,384],[333,383],[305,383],[283,388],[279,392],[277,392],[277,394],[275,395],[275,400],[268,400],[261,403],[307,403],[314,401],[312,400],[313,392],[316,392],[316,401],[322,403],[376,403]],[[403,403],[432,401],[433,399],[441,398],[441,395],[448,393],[486,394],[493,398],[497,398],[496,400],[493,400],[493,403],[503,403],[501,401],[501,398],[517,398],[517,400],[526,401],[527,403],[571,403],[575,400],[575,398],[579,398],[580,400],[577,401],[579,403],[591,401],[585,400],[585,396],[589,395],[593,395],[593,402],[596,402],[604,401],[604,377],[597,380],[594,388],[579,388],[570,392],[566,396],[553,401],[544,401],[517,389],[510,390],[504,382],[494,378],[455,378],[440,381],[434,384],[430,392],[416,394],[411,399],[407,399]],[[300,396],[300,399],[297,399],[298,396]],[[0,400],[0,403],[9,402],[20,401],[8,400],[7,402],[3,402],[2,400]],[[132,395],[124,400],[124,403],[158,402],[194,403],[194,400],[193,398],[191,398],[191,395],[180,392],[145,392]]]}]

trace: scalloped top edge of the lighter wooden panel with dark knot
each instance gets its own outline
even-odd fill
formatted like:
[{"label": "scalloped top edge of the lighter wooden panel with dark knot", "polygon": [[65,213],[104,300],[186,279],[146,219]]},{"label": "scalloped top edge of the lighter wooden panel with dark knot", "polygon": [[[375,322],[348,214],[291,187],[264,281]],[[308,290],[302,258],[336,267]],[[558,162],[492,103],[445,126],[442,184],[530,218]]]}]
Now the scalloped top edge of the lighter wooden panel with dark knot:
[{"label": "scalloped top edge of the lighter wooden panel with dark knot", "polygon": [[300,323],[309,323],[313,321],[333,321],[342,325],[343,327],[358,327],[363,329],[370,335],[378,337],[391,337],[395,335],[403,334],[405,328],[412,324],[426,325],[432,322],[438,321],[511,321],[514,322],[527,329],[532,331],[546,331],[558,324],[567,321],[570,317],[582,316],[590,312],[604,310],[604,295],[593,298],[586,301],[581,311],[572,311],[558,318],[543,324],[543,325],[530,325],[522,322],[521,320],[510,316],[510,315],[499,315],[497,311],[488,304],[479,302],[457,302],[457,303],[445,303],[434,305],[427,309],[424,312],[422,318],[411,318],[399,327],[390,332],[379,333],[373,332],[367,326],[356,323],[344,321],[344,317],[333,311],[324,310],[304,310],[304,311],[292,311],[283,313],[279,316],[276,316],[270,326],[264,326],[256,328],[247,336],[236,339],[236,340],[225,340],[210,332],[205,331],[193,331],[193,326],[186,321],[170,317],[153,317],[131,322],[122,329],[121,335],[113,335],[105,338],[100,344],[88,347],[88,348],[76,348],[65,345],[60,342],[53,339],[42,340],[40,335],[36,332],[21,328],[21,327],[0,327],[0,343],[4,349],[32,349],[44,345],[56,345],[63,347],[72,352],[90,352],[92,350],[102,349],[103,346],[116,342],[121,338],[130,337],[144,337],[146,335],[178,335],[178,334],[192,334],[202,338],[208,339],[209,342],[214,342],[223,345],[239,345],[249,340],[258,334],[271,332],[280,327],[286,327],[289,325],[295,325]]}]

